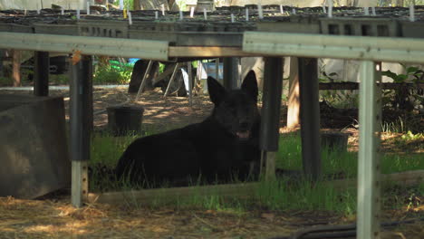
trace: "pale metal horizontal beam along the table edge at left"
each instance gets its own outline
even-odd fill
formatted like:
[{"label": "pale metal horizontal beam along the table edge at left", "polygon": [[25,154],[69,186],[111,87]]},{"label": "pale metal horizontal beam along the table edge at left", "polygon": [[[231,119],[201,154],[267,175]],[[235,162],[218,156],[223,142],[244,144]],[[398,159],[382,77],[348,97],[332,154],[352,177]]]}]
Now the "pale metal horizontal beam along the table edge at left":
[{"label": "pale metal horizontal beam along the table edge at left", "polygon": [[167,61],[169,42],[35,33],[0,33],[0,48]]}]

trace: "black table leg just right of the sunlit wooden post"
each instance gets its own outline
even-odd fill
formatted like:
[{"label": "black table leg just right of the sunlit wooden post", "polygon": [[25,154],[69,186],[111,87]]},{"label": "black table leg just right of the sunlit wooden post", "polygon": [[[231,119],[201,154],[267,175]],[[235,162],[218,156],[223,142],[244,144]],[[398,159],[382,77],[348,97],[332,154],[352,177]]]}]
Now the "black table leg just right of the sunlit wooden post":
[{"label": "black table leg just right of the sunlit wooden post", "polygon": [[304,175],[316,180],[321,174],[320,104],[316,58],[299,58],[299,89]]}]

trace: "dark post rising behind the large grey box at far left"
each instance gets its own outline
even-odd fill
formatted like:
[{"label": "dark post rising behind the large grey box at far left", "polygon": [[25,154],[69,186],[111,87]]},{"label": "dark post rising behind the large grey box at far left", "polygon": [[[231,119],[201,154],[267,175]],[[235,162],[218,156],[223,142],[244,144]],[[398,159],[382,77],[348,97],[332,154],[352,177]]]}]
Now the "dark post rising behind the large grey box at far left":
[{"label": "dark post rising behind the large grey box at far left", "polygon": [[34,52],[34,95],[49,95],[50,59],[48,52]]}]

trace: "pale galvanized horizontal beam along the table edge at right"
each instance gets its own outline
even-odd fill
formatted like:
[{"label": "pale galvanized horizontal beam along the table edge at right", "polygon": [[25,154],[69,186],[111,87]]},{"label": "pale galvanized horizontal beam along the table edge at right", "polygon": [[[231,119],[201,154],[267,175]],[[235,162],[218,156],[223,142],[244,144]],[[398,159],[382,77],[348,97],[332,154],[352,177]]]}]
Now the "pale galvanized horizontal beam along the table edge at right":
[{"label": "pale galvanized horizontal beam along the table edge at right", "polygon": [[400,37],[246,32],[243,51],[375,62],[424,62],[424,40]]}]

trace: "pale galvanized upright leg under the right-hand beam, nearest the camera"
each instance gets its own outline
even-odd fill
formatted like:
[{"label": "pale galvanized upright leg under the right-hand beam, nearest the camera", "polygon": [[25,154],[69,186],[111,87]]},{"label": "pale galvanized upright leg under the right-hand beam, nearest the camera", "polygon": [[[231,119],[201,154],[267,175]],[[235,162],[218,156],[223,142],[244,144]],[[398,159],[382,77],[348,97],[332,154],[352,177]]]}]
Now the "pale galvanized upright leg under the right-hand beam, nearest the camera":
[{"label": "pale galvanized upright leg under the right-hand beam, nearest the camera", "polygon": [[[358,238],[380,238],[381,81],[376,64],[361,62],[358,162]],[[379,71],[381,71],[379,69]],[[381,84],[380,84],[381,85]]]}]

